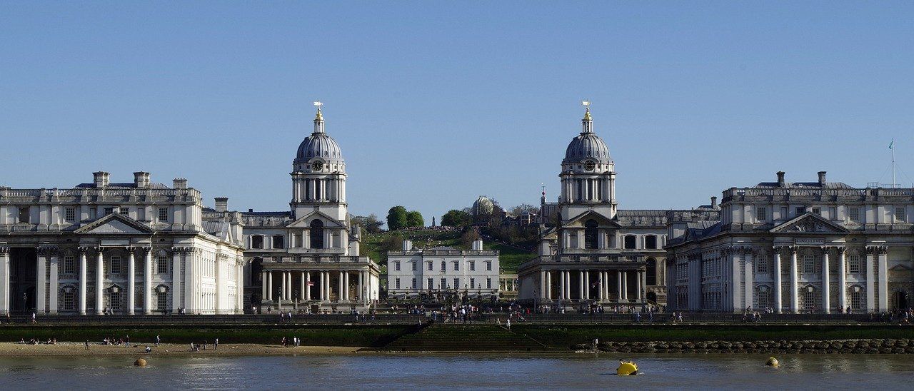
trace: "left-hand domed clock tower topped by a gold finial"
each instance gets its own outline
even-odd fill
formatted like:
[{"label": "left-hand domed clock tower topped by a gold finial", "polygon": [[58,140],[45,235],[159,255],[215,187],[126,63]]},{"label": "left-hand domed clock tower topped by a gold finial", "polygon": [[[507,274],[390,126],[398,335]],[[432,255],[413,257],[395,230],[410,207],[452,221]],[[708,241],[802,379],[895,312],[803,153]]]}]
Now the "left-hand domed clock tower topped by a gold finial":
[{"label": "left-hand domed clock tower topped by a gold finial", "polygon": [[324,114],[317,106],[314,132],[298,146],[292,161],[292,213],[303,217],[320,211],[345,221],[345,161],[340,146],[324,132]]}]

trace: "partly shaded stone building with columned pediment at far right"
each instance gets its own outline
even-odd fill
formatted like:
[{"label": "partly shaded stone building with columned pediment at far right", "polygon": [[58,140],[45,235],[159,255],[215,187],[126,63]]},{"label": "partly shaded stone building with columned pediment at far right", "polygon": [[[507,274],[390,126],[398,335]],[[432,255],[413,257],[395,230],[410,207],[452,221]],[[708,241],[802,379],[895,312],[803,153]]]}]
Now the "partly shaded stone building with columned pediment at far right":
[{"label": "partly shaded stone building with columned pediment at far right", "polygon": [[777,182],[723,192],[721,221],[673,223],[673,310],[884,312],[910,307],[914,189]]}]

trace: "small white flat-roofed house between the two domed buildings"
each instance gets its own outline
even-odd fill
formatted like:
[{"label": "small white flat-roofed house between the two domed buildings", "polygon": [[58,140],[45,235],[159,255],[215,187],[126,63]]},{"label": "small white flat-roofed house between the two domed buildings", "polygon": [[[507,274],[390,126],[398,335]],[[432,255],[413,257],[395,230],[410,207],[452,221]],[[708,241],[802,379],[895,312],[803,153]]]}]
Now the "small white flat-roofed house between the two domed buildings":
[{"label": "small white flat-roofed house between the two domed buildings", "polygon": [[417,297],[421,292],[462,291],[470,298],[498,297],[498,251],[483,248],[413,248],[403,241],[399,251],[388,251],[388,297]]}]

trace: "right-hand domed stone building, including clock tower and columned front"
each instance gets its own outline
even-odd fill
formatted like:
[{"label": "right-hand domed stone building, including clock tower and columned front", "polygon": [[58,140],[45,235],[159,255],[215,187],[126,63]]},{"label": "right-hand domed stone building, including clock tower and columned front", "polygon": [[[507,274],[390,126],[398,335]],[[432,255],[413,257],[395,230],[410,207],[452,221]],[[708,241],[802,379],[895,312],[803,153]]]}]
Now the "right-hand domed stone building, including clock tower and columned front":
[{"label": "right-hand domed stone building, including clock tower and columned front", "polygon": [[545,191],[540,199],[539,256],[517,270],[520,299],[663,304],[667,221],[713,218],[717,206],[617,209],[615,164],[590,109],[581,126],[561,163],[558,203],[547,203]]}]

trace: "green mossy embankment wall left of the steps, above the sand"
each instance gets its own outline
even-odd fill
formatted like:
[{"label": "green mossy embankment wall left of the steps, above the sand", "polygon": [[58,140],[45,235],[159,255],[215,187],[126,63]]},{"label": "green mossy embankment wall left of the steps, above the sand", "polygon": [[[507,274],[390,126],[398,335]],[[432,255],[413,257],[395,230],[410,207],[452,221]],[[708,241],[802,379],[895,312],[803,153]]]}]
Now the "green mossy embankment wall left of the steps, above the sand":
[{"label": "green mossy embankment wall left of the steps, above the sand", "polygon": [[98,342],[105,337],[122,338],[130,335],[131,342],[151,343],[160,335],[165,343],[280,343],[282,337],[299,337],[303,345],[313,346],[383,346],[404,333],[411,333],[415,326],[306,326],[306,327],[98,327],[98,326],[23,326],[0,328],[0,342],[19,342],[21,339]]}]

